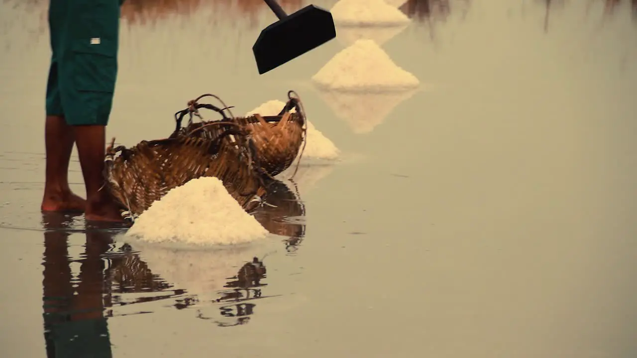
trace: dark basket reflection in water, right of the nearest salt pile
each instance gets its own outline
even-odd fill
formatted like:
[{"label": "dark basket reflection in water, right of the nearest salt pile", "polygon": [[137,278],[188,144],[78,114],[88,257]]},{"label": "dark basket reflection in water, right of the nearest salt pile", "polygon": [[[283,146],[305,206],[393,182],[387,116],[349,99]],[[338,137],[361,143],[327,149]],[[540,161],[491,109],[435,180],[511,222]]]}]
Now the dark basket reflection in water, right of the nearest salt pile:
[{"label": "dark basket reflection in water, right of the nearest salt pile", "polygon": [[[287,236],[291,240],[305,236],[303,222],[288,222],[288,218],[304,218],[305,206],[298,191],[295,194],[288,185],[278,180],[268,183],[268,194],[264,204],[254,218],[271,234]],[[293,219],[293,220],[294,220]]]}]

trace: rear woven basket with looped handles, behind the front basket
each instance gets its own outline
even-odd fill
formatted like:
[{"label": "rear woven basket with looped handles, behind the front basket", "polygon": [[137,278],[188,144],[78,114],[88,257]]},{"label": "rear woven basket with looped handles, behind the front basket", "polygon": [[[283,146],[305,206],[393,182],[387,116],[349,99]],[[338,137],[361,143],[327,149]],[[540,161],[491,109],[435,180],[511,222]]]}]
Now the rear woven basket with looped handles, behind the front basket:
[{"label": "rear woven basket with looped handles, behind the front basket", "polygon": [[[224,111],[228,110],[227,106],[222,110],[211,104],[197,103],[203,97],[213,96],[204,94],[197,97],[194,101],[190,101],[188,108],[175,114],[176,127],[173,134],[171,134],[171,138],[178,136],[216,138],[220,132],[238,124],[241,130],[250,134],[254,141],[255,164],[262,168],[268,176],[278,175],[289,168],[294,159],[296,159],[306,130],[302,105],[299,99],[290,96],[292,93],[294,92],[288,92],[289,101],[276,116],[255,114],[249,117],[237,118],[229,118],[225,115]],[[217,111],[223,118],[215,121],[192,122],[193,115],[201,117],[198,111],[199,108]],[[294,113],[290,113],[292,109],[295,110]],[[190,115],[189,124],[182,127],[182,120],[186,114]],[[232,113],[230,114],[232,116]],[[231,139],[229,138],[228,140]]]}]

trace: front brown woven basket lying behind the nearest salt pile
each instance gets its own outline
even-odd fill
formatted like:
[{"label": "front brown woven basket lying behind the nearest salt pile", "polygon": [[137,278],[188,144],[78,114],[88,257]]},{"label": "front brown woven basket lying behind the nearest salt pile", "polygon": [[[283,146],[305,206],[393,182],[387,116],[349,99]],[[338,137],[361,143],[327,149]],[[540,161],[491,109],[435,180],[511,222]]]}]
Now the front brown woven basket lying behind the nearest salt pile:
[{"label": "front brown woven basket lying behind the nearest salt pile", "polygon": [[201,176],[219,178],[245,210],[254,209],[260,200],[253,199],[264,196],[266,189],[252,166],[248,142],[225,145],[223,139],[231,134],[247,138],[228,130],[214,140],[182,136],[141,141],[132,148],[111,145],[104,175],[111,195],[128,211],[122,215],[134,220],[169,190]]}]

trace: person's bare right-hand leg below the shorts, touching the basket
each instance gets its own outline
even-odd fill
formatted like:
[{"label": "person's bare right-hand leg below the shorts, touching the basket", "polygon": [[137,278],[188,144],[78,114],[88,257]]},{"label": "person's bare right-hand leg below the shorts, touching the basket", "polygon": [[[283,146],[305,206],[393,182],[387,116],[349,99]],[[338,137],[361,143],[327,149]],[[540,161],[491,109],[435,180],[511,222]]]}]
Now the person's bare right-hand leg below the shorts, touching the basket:
[{"label": "person's bare right-hand leg below the shorts, touching the basket", "polygon": [[74,125],[73,131],[86,186],[86,219],[123,221],[115,201],[103,187],[106,127],[104,125]]}]

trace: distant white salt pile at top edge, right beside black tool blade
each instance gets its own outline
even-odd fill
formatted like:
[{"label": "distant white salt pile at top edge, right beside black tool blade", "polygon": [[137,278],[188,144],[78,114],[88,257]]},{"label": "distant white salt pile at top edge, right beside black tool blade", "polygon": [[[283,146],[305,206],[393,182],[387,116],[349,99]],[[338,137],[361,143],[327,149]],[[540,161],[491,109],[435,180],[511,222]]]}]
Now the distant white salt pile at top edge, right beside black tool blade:
[{"label": "distant white salt pile at top edge, right beside black tool blade", "polygon": [[384,0],[341,0],[330,12],[337,25],[393,26],[410,22],[396,6]]}]

